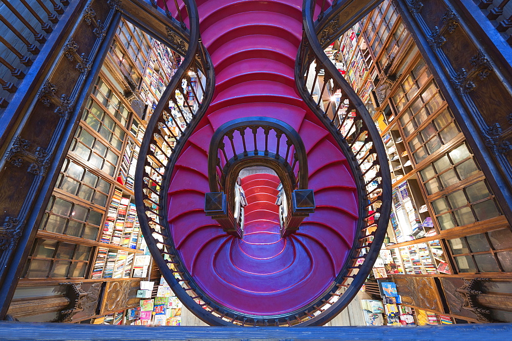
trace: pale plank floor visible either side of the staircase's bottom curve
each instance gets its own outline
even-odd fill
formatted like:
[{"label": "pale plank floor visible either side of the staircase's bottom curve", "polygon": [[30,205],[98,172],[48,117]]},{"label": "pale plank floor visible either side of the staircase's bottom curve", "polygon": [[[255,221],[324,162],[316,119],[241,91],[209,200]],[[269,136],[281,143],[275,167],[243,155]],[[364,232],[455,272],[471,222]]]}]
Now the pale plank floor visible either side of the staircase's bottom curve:
[{"label": "pale plank floor visible either side of the staircase's bottom curve", "polygon": [[[327,323],[326,327],[344,327],[344,326],[365,326],[365,318],[362,315],[361,300],[370,300],[370,295],[359,291],[357,296],[350,302],[347,308],[340,312],[334,319]],[[207,326],[199,320],[190,310],[181,308],[181,325],[203,327]]]}]

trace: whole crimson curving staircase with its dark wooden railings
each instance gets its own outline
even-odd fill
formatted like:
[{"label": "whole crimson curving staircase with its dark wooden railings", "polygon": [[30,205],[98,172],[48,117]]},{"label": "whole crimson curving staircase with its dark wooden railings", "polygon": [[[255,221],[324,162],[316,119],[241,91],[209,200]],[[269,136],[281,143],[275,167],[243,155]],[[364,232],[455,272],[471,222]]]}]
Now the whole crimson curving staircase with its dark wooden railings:
[{"label": "whole crimson curving staircase with its dark wooden railings", "polygon": [[378,3],[157,2],[186,51],[146,130],[137,209],[167,283],[204,322],[323,325],[368,276],[389,170],[323,48]]}]

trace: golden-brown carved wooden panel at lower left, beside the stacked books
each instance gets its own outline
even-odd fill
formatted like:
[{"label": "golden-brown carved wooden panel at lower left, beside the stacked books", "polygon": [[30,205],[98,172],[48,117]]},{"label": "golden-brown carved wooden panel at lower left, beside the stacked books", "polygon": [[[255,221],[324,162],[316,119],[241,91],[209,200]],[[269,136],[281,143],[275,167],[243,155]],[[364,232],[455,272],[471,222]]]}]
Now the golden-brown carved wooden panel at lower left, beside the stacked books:
[{"label": "golden-brown carved wooden panel at lower left, beside the stacked books", "polygon": [[140,279],[119,280],[106,282],[100,314],[110,311],[119,311],[139,304],[137,290]]}]

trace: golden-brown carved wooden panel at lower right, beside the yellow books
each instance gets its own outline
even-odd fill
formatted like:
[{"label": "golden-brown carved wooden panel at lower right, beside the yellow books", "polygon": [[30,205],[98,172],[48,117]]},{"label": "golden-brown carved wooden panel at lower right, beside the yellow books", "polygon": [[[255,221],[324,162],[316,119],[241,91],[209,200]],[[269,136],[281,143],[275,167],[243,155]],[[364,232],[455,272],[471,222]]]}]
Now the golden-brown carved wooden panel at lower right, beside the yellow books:
[{"label": "golden-brown carved wooden panel at lower right, beside the yellow books", "polygon": [[430,311],[443,312],[437,286],[432,277],[395,277],[402,303]]}]

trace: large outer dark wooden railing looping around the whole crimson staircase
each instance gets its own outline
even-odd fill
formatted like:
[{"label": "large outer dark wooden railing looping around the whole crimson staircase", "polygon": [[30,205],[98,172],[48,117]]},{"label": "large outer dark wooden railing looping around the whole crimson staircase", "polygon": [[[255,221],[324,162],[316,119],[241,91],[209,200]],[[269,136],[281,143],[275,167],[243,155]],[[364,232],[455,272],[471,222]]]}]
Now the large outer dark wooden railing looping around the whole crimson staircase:
[{"label": "large outer dark wooden railing looping around the whole crimson staircase", "polygon": [[[356,3],[360,0],[351,1]],[[185,0],[184,3],[189,20],[188,27],[190,31],[188,36],[190,40],[184,41],[182,38],[179,38],[180,36],[186,36],[183,34],[174,35],[176,37],[174,42],[184,51],[184,56],[180,67],[166,88],[153,117],[148,123],[136,170],[137,214],[147,246],[162,275],[179,300],[209,325],[323,325],[332,319],[355,296],[373,265],[386,232],[390,212],[391,180],[383,146],[380,140],[377,140],[379,135],[364,105],[362,105],[343,77],[334,69],[332,62],[325,56],[318,39],[318,30],[313,25],[312,12],[304,12],[305,33],[295,68],[295,78],[299,92],[307,105],[324,122],[327,129],[335,137],[347,158],[349,159],[353,155],[350,164],[354,177],[360,179],[357,184],[358,195],[359,198],[367,198],[368,200],[367,202],[361,201],[360,204],[358,224],[360,226],[360,233],[356,237],[351,251],[352,263],[345,265],[336,277],[335,282],[319,295],[314,302],[289,313],[272,316],[251,315],[231,310],[210,299],[198,287],[194,278],[181,263],[172,236],[170,236],[167,221],[167,190],[174,164],[178,155],[183,150],[186,140],[197,127],[199,120],[204,116],[212,99],[214,93],[213,84],[215,83],[213,67],[210,66],[209,56],[202,46],[199,36],[196,4],[194,0]],[[305,8],[309,9],[312,8],[313,4],[311,0],[306,0],[304,5]],[[345,6],[343,10],[340,10],[338,20],[342,20],[340,18],[343,16],[344,11],[348,11],[347,8],[350,9],[349,6]],[[166,11],[169,12],[168,9]],[[187,25],[184,23],[183,13],[183,7],[181,7],[182,16],[179,17],[179,21],[182,22],[181,27],[186,31],[185,27]],[[364,11],[358,12],[357,15],[359,17],[356,19],[359,20],[364,14],[366,14]],[[324,18],[332,16],[334,16],[332,9],[328,9],[323,14]],[[338,31],[338,33],[340,34],[341,32]],[[169,34],[169,38],[172,37],[173,35]],[[309,70],[311,68],[314,69],[315,62],[319,66],[317,71],[311,73]],[[318,105],[321,103],[317,103],[313,99],[305,84],[307,84],[308,77],[313,77],[313,75],[315,75],[315,81],[318,81],[319,73],[322,69],[326,75],[330,75],[331,83],[335,84],[334,86],[326,85],[322,93],[324,91],[332,91],[336,87],[342,88],[343,93],[350,99],[349,106],[353,106],[356,109],[354,113],[348,110],[340,110],[339,105],[336,108],[330,105],[330,108],[321,109],[321,106]],[[201,76],[202,81],[193,84],[189,79],[189,73]],[[191,98],[196,99],[194,103],[188,101],[188,93],[191,94]],[[181,95],[180,97],[183,99],[180,101],[179,98],[176,98],[176,94]],[[169,103],[173,104],[173,110],[169,109]],[[336,113],[337,116],[334,117],[333,113]],[[333,117],[334,119],[332,119]],[[350,121],[352,117],[355,118],[353,122]],[[349,133],[342,133],[347,122],[351,122],[350,129],[346,130]],[[373,143],[373,138],[375,138],[376,143]],[[175,141],[175,144],[169,141]],[[355,151],[353,152],[354,149]],[[243,154],[243,151],[241,152]],[[264,152],[263,149],[262,152]],[[290,148],[291,152],[292,147]],[[249,153],[249,150],[247,150],[247,153]],[[238,154],[233,154],[231,157]],[[278,153],[274,153],[274,157],[275,154]],[[219,155],[218,151],[215,155]],[[222,157],[224,158],[223,162],[229,162],[231,158],[224,155]],[[283,158],[287,159],[286,157]],[[383,161],[382,165],[379,164],[379,160]],[[371,161],[370,167],[368,167],[367,161]],[[289,165],[290,162],[291,160],[288,161]],[[159,165],[159,167],[155,167],[154,164]],[[242,164],[240,163],[240,165]],[[226,177],[222,179],[222,173],[216,167],[217,165],[215,165],[213,170],[216,176],[214,177],[215,186],[212,187],[212,192],[216,191],[217,188],[219,188],[219,191],[221,188],[225,188],[226,185],[223,185],[222,181],[231,178]],[[291,169],[295,168],[291,167]],[[219,186],[217,174],[221,175],[221,187],[217,187]],[[238,174],[238,172],[233,169],[232,174]],[[307,188],[307,176],[304,180],[301,178],[304,173],[293,172],[293,174],[298,183],[296,184],[297,188],[301,184],[306,185],[305,188]],[[383,200],[382,198],[387,198],[388,200]],[[380,208],[370,210],[370,208],[374,208],[379,203],[381,203]],[[369,230],[375,227],[377,228],[376,231],[370,233]],[[372,238],[373,243],[371,242]],[[368,252],[365,254],[366,251]]]}]

